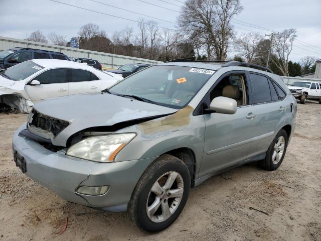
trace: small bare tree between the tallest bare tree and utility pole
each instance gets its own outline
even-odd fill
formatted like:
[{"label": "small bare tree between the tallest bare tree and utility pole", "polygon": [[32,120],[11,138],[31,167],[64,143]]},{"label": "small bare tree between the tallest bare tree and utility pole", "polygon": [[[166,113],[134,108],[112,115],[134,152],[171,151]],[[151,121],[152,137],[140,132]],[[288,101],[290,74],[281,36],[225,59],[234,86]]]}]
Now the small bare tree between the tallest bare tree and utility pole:
[{"label": "small bare tree between the tallest bare tree and utility pole", "polygon": [[262,36],[258,33],[242,34],[235,42],[235,49],[239,55],[245,58],[248,63],[253,63],[257,57],[258,44],[262,40]]}]

